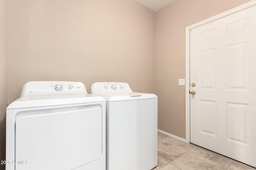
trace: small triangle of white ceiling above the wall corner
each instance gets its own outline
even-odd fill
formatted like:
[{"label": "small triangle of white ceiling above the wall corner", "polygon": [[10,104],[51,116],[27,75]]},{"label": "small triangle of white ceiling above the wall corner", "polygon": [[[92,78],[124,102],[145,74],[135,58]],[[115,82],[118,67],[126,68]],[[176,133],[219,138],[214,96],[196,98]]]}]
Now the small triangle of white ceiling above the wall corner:
[{"label": "small triangle of white ceiling above the wall corner", "polygon": [[158,11],[166,5],[170,4],[174,0],[135,0],[140,4],[152,9],[153,11]]}]

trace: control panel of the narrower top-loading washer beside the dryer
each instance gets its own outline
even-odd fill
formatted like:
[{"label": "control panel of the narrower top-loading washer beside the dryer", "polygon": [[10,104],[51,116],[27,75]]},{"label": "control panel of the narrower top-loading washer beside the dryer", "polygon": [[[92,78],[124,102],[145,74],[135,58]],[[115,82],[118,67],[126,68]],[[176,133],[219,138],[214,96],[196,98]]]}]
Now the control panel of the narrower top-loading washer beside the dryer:
[{"label": "control panel of the narrower top-loading washer beside the dryer", "polygon": [[92,84],[91,94],[97,93],[132,93],[130,86],[123,82],[96,82]]}]

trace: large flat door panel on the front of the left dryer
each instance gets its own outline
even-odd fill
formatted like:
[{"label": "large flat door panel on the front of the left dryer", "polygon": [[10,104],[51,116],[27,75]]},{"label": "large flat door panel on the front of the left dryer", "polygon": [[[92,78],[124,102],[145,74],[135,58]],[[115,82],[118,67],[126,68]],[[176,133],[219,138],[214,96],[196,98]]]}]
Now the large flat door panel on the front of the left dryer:
[{"label": "large flat door panel on the front of the left dryer", "polygon": [[102,156],[100,105],[21,111],[15,123],[16,170],[71,170]]}]

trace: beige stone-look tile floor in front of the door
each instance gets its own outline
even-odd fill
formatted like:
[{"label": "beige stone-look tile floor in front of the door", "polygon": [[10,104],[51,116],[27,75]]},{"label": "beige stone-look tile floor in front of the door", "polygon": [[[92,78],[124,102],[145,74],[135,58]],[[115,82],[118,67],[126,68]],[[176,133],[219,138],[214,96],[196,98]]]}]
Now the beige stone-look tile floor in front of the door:
[{"label": "beige stone-look tile floor in front of the door", "polygon": [[256,170],[158,132],[158,166],[153,170]]}]

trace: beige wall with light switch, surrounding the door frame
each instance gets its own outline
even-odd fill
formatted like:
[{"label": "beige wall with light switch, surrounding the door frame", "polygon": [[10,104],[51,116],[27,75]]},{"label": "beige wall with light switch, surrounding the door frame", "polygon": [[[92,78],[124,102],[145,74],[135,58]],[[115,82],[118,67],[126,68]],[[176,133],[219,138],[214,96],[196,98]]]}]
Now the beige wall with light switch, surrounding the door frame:
[{"label": "beige wall with light switch, surrounding the door frame", "polygon": [[186,138],[185,28],[250,0],[175,0],[156,12],[158,128]]}]

